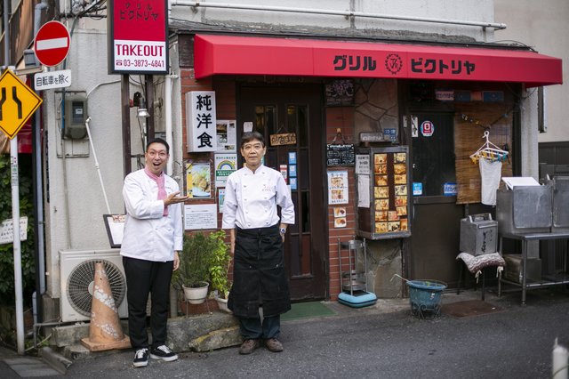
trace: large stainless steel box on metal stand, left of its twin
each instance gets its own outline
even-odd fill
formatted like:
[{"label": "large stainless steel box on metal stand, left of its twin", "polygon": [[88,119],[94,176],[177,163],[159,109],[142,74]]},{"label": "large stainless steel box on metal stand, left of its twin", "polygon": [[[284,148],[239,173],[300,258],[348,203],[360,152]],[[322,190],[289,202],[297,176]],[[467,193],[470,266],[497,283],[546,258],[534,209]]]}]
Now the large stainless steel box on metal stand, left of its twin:
[{"label": "large stainless steel box on metal stand, left of its twin", "polygon": [[552,186],[516,186],[498,189],[496,220],[501,234],[549,233],[551,230]]}]

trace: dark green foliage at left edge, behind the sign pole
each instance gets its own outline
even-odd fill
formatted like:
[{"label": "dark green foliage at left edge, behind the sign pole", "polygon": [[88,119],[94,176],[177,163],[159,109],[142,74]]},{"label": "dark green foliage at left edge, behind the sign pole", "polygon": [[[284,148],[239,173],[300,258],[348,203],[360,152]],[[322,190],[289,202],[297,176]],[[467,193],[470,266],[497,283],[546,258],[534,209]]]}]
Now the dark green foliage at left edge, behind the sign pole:
[{"label": "dark green foliage at left edge, behind the sign pole", "polygon": [[[22,287],[24,303],[31,304],[36,286],[34,254],[34,205],[31,156],[22,154],[19,159],[20,217],[28,217],[28,239],[20,242]],[[12,182],[10,156],[0,155],[0,222],[12,218]],[[14,260],[13,244],[0,245],[0,303],[13,305]]]}]

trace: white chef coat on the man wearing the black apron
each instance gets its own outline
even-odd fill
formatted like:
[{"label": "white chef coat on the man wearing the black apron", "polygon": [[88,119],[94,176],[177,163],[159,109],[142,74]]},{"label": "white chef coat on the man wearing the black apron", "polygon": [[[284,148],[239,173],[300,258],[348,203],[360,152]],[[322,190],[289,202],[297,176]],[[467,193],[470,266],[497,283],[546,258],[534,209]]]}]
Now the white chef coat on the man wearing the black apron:
[{"label": "white chef coat on the man wearing the black apron", "polygon": [[267,228],[279,222],[276,206],[281,207],[281,220],[294,223],[291,190],[283,174],[265,165],[253,173],[244,166],[231,173],[225,186],[223,229]]}]

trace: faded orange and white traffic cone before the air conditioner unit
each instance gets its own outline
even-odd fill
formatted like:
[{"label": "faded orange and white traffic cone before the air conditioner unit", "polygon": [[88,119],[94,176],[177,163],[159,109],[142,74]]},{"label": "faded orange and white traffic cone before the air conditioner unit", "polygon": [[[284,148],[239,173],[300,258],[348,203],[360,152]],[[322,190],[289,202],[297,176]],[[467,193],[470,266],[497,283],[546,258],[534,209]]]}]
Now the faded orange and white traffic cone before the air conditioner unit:
[{"label": "faded orange and white traffic cone before the air conditioner unit", "polygon": [[90,351],[130,348],[131,341],[123,333],[115,299],[108,284],[107,272],[101,262],[95,263],[92,287],[89,337],[82,338],[81,343]]}]

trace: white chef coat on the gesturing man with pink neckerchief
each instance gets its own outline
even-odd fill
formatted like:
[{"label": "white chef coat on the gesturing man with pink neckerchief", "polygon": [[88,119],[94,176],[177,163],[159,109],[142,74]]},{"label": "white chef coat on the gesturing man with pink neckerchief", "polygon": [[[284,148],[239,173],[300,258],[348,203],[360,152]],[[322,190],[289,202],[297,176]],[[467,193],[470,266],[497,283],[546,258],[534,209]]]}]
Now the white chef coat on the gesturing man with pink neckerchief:
[{"label": "white chef coat on the gesturing man with pink neckerchief", "polygon": [[[177,192],[178,183],[164,177],[166,194]],[[164,200],[158,200],[158,185],[144,169],[124,178],[126,220],[121,255],[153,262],[173,261],[174,250],[181,251],[183,229],[181,204],[168,206],[164,216]]]}]

